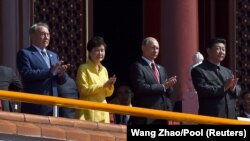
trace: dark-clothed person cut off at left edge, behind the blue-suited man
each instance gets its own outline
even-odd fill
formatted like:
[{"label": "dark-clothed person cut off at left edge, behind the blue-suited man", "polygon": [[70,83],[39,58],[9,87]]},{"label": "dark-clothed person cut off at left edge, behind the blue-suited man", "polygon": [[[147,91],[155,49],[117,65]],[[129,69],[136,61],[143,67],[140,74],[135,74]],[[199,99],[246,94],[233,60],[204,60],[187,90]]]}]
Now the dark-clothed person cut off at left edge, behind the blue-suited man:
[{"label": "dark-clothed person cut off at left edge, behind the blue-suited man", "polygon": [[[22,83],[16,75],[16,72],[9,67],[0,66],[0,90],[20,91]],[[2,110],[14,112],[18,110],[17,103],[9,100],[1,100]]]}]

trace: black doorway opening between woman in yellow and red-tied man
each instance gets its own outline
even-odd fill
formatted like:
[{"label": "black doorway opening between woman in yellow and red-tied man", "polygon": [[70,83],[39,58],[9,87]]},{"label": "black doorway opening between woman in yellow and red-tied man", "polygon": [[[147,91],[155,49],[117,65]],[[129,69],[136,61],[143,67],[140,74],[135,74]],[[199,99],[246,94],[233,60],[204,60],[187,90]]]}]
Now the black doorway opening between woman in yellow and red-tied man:
[{"label": "black doorway opening between woman in yellow and red-tied man", "polygon": [[129,84],[129,66],[141,56],[143,39],[142,0],[94,0],[94,35],[107,43],[102,62],[109,76],[117,76],[116,86]]}]

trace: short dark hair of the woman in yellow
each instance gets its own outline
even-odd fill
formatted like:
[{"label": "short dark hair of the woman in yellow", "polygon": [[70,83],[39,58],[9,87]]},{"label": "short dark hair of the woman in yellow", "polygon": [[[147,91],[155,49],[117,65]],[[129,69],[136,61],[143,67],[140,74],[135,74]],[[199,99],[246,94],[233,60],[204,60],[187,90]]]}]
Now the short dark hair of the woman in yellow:
[{"label": "short dark hair of the woman in yellow", "polygon": [[93,48],[99,47],[101,45],[103,45],[105,49],[107,48],[107,45],[102,37],[100,36],[92,37],[87,43],[87,50],[91,51]]}]

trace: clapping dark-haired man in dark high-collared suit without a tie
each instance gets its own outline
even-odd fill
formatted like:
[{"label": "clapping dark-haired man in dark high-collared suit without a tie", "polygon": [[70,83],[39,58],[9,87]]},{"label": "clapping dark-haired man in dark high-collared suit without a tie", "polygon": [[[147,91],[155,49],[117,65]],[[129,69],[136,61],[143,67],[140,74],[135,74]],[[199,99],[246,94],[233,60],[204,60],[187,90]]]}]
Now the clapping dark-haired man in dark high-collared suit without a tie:
[{"label": "clapping dark-haired man in dark high-collared suit without a tie", "polygon": [[198,94],[200,115],[236,118],[236,98],[241,88],[232,71],[221,65],[226,56],[226,40],[211,39],[208,58],[191,70]]}]

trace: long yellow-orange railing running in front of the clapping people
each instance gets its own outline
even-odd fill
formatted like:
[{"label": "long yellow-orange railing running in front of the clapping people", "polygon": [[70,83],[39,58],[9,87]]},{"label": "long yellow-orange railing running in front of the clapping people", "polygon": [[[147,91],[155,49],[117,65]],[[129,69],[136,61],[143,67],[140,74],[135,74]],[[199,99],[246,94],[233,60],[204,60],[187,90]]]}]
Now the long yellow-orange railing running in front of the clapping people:
[{"label": "long yellow-orange railing running in front of the clapping people", "polygon": [[139,107],[129,107],[116,104],[104,104],[99,102],[90,102],[83,100],[66,99],[60,97],[44,96],[38,94],[27,94],[27,93],[11,92],[3,90],[0,90],[0,98],[12,99],[21,102],[44,104],[44,105],[58,105],[62,107],[71,107],[77,109],[84,109],[84,108],[94,109],[94,110],[128,114],[140,117],[168,119],[174,121],[185,121],[185,122],[201,123],[201,124],[250,125],[250,122],[239,121],[234,119],[225,119],[218,117],[201,116],[196,114],[153,110],[153,109],[139,108]]}]

